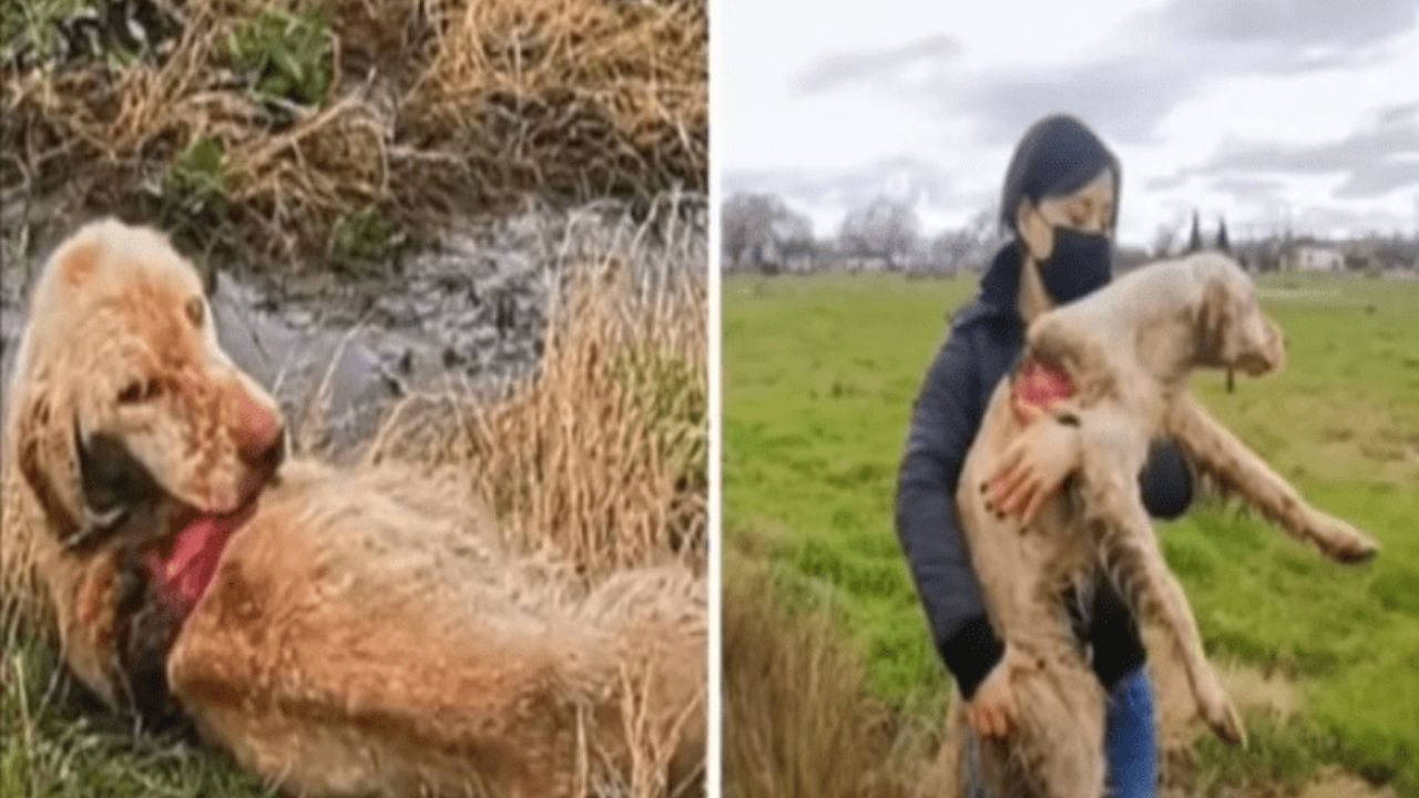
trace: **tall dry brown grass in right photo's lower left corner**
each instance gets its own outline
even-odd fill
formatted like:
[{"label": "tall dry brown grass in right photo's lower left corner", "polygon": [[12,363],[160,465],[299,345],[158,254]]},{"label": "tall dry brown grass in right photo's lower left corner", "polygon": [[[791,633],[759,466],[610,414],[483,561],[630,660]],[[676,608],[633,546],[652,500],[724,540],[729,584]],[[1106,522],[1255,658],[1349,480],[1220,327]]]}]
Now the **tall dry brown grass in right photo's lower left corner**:
[{"label": "tall dry brown grass in right photo's lower left corner", "polygon": [[942,794],[937,734],[868,694],[861,662],[826,611],[790,609],[775,594],[762,567],[727,562],[725,795]]}]

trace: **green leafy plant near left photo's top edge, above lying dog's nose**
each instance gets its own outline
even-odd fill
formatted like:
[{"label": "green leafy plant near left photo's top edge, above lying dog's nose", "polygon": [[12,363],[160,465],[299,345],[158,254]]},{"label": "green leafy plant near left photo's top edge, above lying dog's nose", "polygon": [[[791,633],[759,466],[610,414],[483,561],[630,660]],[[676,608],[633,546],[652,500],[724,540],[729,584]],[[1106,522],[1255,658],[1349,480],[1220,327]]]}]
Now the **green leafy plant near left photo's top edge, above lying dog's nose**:
[{"label": "green leafy plant near left photo's top edge, above lying dog's nose", "polygon": [[331,89],[331,33],[321,10],[268,9],[233,31],[228,50],[257,97],[319,105]]}]

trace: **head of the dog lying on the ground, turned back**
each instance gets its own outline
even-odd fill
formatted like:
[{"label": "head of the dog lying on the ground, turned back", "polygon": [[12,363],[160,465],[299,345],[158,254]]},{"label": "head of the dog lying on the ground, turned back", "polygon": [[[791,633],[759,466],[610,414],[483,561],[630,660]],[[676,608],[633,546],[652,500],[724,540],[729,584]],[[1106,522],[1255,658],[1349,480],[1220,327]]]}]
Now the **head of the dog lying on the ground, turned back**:
[{"label": "head of the dog lying on the ground, turned back", "polygon": [[68,547],[139,508],[166,530],[234,517],[284,453],[274,399],[221,351],[196,270],[150,229],[105,220],[60,246],[13,389],[16,464]]}]

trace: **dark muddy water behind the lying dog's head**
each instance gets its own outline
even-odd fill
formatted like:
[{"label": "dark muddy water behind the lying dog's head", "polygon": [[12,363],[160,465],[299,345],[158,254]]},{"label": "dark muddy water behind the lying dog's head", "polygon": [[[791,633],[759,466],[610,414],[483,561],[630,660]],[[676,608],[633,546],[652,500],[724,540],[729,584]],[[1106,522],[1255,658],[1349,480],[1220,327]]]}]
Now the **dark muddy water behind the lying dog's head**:
[{"label": "dark muddy water behind the lying dog's head", "polygon": [[[607,257],[629,268],[704,268],[702,214],[690,216],[674,246],[600,203],[470,223],[358,274],[236,268],[216,278],[213,317],[237,365],[281,399],[295,436],[350,450],[402,396],[494,390],[534,368],[569,268]],[[38,258],[7,264],[0,280],[6,379]]]}]

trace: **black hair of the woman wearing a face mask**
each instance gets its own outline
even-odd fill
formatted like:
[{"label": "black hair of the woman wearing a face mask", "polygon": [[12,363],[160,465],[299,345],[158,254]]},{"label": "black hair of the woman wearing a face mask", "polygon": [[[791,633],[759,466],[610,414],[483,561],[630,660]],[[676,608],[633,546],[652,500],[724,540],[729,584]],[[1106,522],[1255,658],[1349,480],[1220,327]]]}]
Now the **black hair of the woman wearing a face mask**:
[{"label": "black hair of the woman wearing a face mask", "polygon": [[1015,145],[1010,168],[1005,170],[1000,190],[1000,224],[1015,230],[1015,212],[1022,197],[1039,203],[1074,192],[1108,169],[1114,177],[1114,214],[1118,223],[1118,158],[1087,125],[1066,114],[1054,114],[1030,125]]}]

